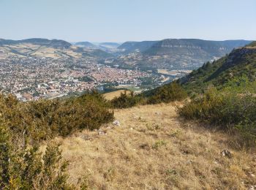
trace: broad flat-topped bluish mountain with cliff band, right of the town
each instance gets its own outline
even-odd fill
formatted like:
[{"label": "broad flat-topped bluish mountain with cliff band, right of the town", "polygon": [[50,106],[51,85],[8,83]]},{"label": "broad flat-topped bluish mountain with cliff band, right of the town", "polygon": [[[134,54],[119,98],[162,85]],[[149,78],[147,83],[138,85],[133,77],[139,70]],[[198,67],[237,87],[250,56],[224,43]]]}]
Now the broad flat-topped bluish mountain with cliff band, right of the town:
[{"label": "broad flat-topped bluish mountain with cliff band, right of the town", "polygon": [[161,41],[125,42],[118,49],[122,55],[113,64],[123,67],[138,67],[143,70],[197,69],[206,61],[214,61],[233,48],[252,41],[203,39],[163,39]]}]

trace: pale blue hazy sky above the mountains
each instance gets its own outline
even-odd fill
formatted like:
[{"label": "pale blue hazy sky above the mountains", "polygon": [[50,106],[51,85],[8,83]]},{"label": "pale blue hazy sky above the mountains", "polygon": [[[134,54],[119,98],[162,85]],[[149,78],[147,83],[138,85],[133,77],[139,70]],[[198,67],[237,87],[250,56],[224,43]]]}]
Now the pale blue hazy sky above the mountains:
[{"label": "pale blue hazy sky above the mountains", "polygon": [[0,38],[256,39],[256,0],[0,0]]}]

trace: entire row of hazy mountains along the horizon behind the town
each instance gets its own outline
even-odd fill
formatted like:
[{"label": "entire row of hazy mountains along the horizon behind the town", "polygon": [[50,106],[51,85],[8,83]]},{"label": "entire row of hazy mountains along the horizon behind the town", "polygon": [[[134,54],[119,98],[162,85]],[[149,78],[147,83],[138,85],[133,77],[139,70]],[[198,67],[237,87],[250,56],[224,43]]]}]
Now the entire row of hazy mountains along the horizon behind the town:
[{"label": "entire row of hazy mountains along the horizon behind the town", "polygon": [[[60,39],[0,39],[0,58],[10,56],[50,58],[113,58],[113,64],[138,66],[144,69],[195,69],[213,61],[233,48],[252,41],[208,41],[202,39],[164,39],[161,41],[77,42],[75,45]],[[132,53],[132,54],[130,54]],[[121,56],[119,56],[121,55]],[[108,61],[111,62],[111,61]]]}]

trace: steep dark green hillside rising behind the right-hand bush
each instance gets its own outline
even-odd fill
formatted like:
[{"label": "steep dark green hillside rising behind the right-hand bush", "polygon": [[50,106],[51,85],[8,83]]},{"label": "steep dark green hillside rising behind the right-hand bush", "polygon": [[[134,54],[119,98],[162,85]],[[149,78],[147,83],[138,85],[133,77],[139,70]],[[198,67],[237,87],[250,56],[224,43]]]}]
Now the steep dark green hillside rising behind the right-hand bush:
[{"label": "steep dark green hillside rising behind the right-hand bush", "polygon": [[233,77],[246,75],[256,80],[256,42],[238,47],[228,56],[213,63],[203,64],[199,69],[180,79],[181,84],[190,91],[205,90],[208,86],[222,86]]}]

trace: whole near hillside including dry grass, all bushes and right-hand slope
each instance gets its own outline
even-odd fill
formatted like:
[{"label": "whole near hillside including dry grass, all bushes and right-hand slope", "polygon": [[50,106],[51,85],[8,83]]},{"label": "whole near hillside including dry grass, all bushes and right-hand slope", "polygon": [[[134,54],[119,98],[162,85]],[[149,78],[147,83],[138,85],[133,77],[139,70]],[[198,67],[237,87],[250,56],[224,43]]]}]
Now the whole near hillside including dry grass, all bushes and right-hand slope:
[{"label": "whole near hillside including dry grass, all bushes and right-hand slope", "polygon": [[[37,102],[0,95],[0,189],[252,188],[254,45],[181,85],[105,95],[110,102],[96,92]],[[183,87],[202,94],[176,102],[187,98]]]}]

